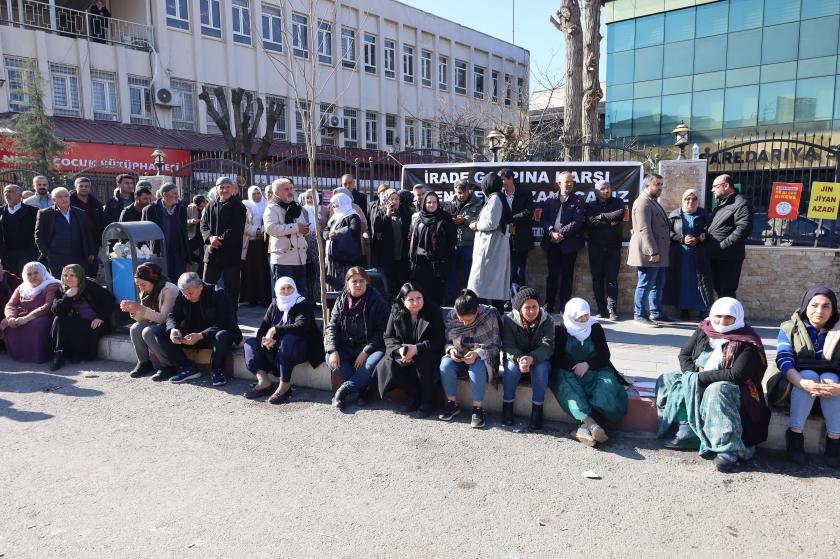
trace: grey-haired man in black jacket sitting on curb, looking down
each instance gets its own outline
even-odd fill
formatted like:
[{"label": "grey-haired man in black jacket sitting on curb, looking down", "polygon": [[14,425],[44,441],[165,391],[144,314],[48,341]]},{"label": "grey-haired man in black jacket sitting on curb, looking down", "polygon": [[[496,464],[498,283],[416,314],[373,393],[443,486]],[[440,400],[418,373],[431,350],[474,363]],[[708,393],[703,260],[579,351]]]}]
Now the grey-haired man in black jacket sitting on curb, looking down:
[{"label": "grey-haired man in black jacket sitting on curb, looking down", "polygon": [[178,278],[181,291],[166,320],[166,329],[157,335],[164,358],[178,367],[169,382],[180,384],[201,376],[185,349],[212,349],[210,378],[213,386],[224,386],[225,362],[234,344],[242,342],[233,308],[224,289],[204,283],[195,272]]}]

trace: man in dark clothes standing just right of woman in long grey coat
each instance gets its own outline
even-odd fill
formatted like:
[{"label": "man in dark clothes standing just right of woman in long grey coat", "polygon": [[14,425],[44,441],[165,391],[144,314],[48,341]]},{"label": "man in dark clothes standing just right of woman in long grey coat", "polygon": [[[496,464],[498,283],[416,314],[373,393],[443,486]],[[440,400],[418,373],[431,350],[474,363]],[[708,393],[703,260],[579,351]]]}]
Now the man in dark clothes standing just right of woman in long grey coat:
[{"label": "man in dark clothes standing just right of woman in long grey coat", "polygon": [[513,297],[527,282],[526,267],[528,253],[534,247],[534,195],[529,188],[516,184],[511,169],[499,171],[502,186],[513,221],[508,224],[510,232],[510,295]]}]

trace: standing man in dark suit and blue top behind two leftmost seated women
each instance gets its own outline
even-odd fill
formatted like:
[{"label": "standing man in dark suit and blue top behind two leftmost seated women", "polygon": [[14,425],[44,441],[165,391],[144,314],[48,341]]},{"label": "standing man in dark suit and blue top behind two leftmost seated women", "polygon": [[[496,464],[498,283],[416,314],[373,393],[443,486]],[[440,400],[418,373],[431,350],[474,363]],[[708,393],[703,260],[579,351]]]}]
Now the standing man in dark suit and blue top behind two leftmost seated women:
[{"label": "standing man in dark suit and blue top behind two leftmost seated women", "polygon": [[96,249],[87,228],[85,212],[70,205],[70,192],[63,186],[52,191],[54,205],[38,212],[35,244],[53,277],[60,278],[68,264],[85,269],[96,261]]}]

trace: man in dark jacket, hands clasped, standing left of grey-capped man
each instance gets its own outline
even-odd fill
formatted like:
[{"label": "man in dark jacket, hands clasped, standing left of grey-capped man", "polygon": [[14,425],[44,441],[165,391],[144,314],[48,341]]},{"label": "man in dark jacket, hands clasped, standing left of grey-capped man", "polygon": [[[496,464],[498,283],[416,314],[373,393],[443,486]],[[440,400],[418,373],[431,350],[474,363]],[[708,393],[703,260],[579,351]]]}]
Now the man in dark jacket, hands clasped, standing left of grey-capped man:
[{"label": "man in dark jacket, hands clasped, standing left of grey-capped man", "polygon": [[583,225],[586,222],[586,204],[583,196],[575,194],[575,179],[564,171],[557,179],[557,195],[545,201],[540,225],[543,229],[542,247],[548,261],[545,308],[553,313],[560,283],[560,311],[572,297],[575,260],[583,246]]}]

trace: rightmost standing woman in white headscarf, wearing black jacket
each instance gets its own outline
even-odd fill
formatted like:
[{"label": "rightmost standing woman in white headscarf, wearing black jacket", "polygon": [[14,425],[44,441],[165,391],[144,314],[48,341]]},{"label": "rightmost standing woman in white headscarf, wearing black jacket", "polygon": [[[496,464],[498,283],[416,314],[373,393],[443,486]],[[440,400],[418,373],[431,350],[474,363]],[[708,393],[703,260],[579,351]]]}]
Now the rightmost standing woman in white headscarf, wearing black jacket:
[{"label": "rightmost standing woman in white headscarf, wearing black jacket", "polygon": [[344,288],[344,275],[362,257],[362,220],[353,209],[353,199],[344,193],[330,200],[332,216],[323,230],[327,241],[327,283],[334,291]]}]

